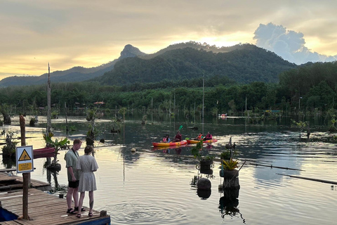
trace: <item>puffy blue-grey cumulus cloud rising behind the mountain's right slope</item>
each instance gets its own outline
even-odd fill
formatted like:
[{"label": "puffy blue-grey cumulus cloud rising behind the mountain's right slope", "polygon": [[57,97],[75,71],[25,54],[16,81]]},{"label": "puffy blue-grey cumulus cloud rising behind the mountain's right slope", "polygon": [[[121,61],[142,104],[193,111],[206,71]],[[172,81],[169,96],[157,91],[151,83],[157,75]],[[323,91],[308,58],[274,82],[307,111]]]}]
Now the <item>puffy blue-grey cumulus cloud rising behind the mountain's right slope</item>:
[{"label": "puffy blue-grey cumulus cloud rising behind the mountain's right slope", "polygon": [[326,56],[312,52],[305,46],[304,34],[286,30],[282,25],[260,24],[254,32],[256,46],[273,51],[277,55],[298,65],[308,62],[331,62],[337,60],[336,56]]}]

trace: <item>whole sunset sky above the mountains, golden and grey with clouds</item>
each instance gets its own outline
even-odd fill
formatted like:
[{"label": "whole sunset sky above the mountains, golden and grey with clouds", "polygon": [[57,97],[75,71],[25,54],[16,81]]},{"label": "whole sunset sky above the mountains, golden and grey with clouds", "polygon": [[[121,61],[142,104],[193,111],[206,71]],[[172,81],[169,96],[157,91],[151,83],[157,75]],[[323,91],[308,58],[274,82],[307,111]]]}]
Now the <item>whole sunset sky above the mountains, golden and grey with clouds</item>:
[{"label": "whole sunset sky above the mountains, golden and grey with clouds", "polygon": [[92,68],[126,44],[256,44],[291,63],[337,59],[337,1],[0,0],[0,79]]}]

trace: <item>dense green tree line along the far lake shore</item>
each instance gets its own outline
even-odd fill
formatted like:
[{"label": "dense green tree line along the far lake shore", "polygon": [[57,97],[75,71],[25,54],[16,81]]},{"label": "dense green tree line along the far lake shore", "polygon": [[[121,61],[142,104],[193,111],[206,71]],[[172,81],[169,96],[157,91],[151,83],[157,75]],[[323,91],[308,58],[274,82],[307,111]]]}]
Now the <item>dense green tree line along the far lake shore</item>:
[{"label": "dense green tree line along the far lake shore", "polygon": [[[63,108],[66,103],[70,110],[74,110],[79,106],[93,108],[93,103],[104,101],[102,108],[180,110],[188,116],[201,112],[204,94],[204,112],[213,115],[239,115],[246,109],[298,113],[300,108],[327,112],[336,108],[336,91],[337,63],[308,63],[282,72],[277,84],[237,84],[232,79],[218,76],[124,86],[101,85],[99,82],[56,83],[51,85],[51,104],[53,108]],[[38,113],[39,108],[47,105],[46,85],[10,86],[0,92],[1,113]]]}]

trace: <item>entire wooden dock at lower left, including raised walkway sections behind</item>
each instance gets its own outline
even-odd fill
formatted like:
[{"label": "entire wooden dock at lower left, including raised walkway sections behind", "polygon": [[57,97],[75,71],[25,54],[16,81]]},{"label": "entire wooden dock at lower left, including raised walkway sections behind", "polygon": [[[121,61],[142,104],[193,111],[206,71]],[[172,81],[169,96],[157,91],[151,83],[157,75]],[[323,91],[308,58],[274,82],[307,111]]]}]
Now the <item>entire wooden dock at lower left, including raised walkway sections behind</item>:
[{"label": "entire wooden dock at lower left, including raised walkway sections behind", "polygon": [[[0,171],[0,208],[22,216],[22,176],[10,175],[5,172],[13,169],[1,169]],[[93,217],[88,217],[88,208],[81,212],[81,218],[76,214],[67,214],[67,200],[51,195],[44,191],[51,190],[51,185],[45,182],[31,179],[32,188],[28,191],[28,215],[29,220],[0,221],[1,225],[42,225],[42,224],[110,224],[110,216],[105,211],[93,210]]]}]

